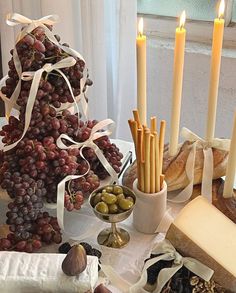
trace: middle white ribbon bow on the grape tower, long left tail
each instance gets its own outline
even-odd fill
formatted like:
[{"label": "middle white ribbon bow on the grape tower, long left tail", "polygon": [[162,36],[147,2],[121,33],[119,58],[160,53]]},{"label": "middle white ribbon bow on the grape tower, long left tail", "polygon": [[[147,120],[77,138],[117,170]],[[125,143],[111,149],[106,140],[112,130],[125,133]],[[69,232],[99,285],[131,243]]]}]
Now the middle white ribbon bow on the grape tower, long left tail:
[{"label": "middle white ribbon bow on the grape tower, long left tail", "polygon": [[[39,69],[37,71],[28,71],[28,72],[22,73],[22,80],[28,81],[28,80],[33,79],[32,84],[31,84],[31,88],[30,88],[30,92],[29,92],[27,105],[26,105],[24,131],[23,131],[21,137],[16,142],[14,142],[13,144],[4,146],[3,151],[8,151],[8,150],[14,148],[21,141],[21,139],[24,137],[24,135],[26,134],[26,131],[30,125],[32,110],[34,107],[34,102],[35,102],[36,95],[38,92],[39,82],[40,82],[40,79],[41,79],[43,72],[51,72],[53,70],[59,72],[63,76],[63,78],[65,79],[65,81],[69,87],[70,93],[75,101],[75,97],[74,97],[70,82],[68,81],[68,79],[64,75],[64,73],[60,70],[61,68],[71,67],[71,66],[75,65],[75,63],[76,63],[76,61],[73,57],[67,57],[67,58],[62,59],[61,61],[57,62],[56,64],[47,63],[41,69]],[[75,101],[75,103],[76,103],[76,101]],[[76,105],[77,105],[77,103],[76,103]]]}]

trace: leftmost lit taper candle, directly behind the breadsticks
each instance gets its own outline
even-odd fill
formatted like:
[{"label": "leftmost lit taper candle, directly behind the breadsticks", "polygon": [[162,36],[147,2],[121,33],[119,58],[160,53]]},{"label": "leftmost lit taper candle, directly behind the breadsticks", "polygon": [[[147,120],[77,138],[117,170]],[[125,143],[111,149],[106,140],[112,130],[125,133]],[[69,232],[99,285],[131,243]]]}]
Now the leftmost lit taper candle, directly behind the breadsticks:
[{"label": "leftmost lit taper candle, directly behind the breadsticks", "polygon": [[146,125],[147,98],[146,98],[146,36],[143,35],[143,18],[139,20],[137,48],[137,108],[140,121]]}]

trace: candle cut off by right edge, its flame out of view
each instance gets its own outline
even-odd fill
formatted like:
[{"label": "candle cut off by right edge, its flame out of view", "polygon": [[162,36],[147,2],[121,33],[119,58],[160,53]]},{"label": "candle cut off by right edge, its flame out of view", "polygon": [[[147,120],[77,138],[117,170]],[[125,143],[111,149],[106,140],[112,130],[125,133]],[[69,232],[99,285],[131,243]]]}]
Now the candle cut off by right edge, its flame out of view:
[{"label": "candle cut off by right edge, its flame out of view", "polygon": [[223,192],[223,196],[225,198],[232,197],[233,195],[235,170],[236,170],[236,111],[234,113],[233,133],[231,137],[230,151],[229,151],[224,192]]}]

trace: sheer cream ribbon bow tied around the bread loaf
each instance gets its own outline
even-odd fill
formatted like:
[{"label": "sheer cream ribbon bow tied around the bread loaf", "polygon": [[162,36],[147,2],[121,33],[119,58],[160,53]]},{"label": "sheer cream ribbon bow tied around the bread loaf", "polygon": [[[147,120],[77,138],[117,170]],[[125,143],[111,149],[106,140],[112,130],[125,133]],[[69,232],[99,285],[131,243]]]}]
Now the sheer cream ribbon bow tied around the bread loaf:
[{"label": "sheer cream ribbon bow tied around the bread loaf", "polygon": [[229,139],[214,138],[211,142],[207,142],[188,128],[184,127],[181,130],[181,136],[190,142],[193,142],[191,151],[187,158],[185,172],[189,184],[175,197],[169,197],[168,201],[174,203],[184,203],[191,198],[194,185],[194,165],[196,158],[197,147],[203,148],[204,162],[202,171],[202,186],[201,194],[212,202],[212,180],[214,171],[214,160],[212,148],[228,151],[230,147]]}]

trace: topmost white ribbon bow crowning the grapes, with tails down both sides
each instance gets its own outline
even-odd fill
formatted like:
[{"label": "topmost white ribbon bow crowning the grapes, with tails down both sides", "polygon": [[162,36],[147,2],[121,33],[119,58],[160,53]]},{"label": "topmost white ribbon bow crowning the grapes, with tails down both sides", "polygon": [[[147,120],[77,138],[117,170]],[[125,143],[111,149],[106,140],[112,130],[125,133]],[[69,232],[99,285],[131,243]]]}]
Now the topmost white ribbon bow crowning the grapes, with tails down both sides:
[{"label": "topmost white ribbon bow crowning the grapes, with tails down both sides", "polygon": [[[21,14],[18,14],[18,13],[10,13],[7,15],[6,22],[10,26],[16,26],[19,24],[26,25],[26,27],[17,36],[16,43],[18,41],[20,41],[24,36],[29,34],[31,31],[33,31],[36,27],[41,26],[44,28],[47,38],[52,43],[57,45],[59,48],[61,48],[63,51],[65,51],[69,55],[74,56],[74,57],[78,57],[79,59],[84,61],[84,58],[82,57],[82,55],[79,54],[77,51],[73,50],[72,48],[60,45],[58,43],[57,39],[54,37],[53,33],[46,26],[46,25],[53,25],[56,22],[58,22],[58,20],[59,20],[59,17],[57,15],[48,15],[48,16],[42,17],[40,19],[33,19],[32,20],[32,19],[29,19]],[[6,112],[7,118],[9,118],[13,108],[19,109],[18,105],[16,104],[16,101],[17,101],[17,98],[18,98],[18,96],[20,94],[20,90],[21,90],[22,67],[21,67],[20,59],[17,54],[16,48],[14,48],[14,50],[13,50],[13,61],[14,61],[14,65],[15,65],[17,74],[19,76],[19,81],[16,85],[16,88],[15,88],[12,96],[9,99],[0,91],[0,96],[3,99],[3,101],[5,102],[5,112]],[[83,72],[83,77],[80,80],[80,95],[76,97],[76,100],[81,101],[82,114],[87,119],[88,106],[87,106],[87,102],[85,99],[86,90],[83,91],[86,80],[87,80],[87,76],[86,76],[86,67],[85,67],[84,72]],[[65,103],[58,110],[64,110],[69,107],[71,107],[71,104]]]}]

